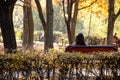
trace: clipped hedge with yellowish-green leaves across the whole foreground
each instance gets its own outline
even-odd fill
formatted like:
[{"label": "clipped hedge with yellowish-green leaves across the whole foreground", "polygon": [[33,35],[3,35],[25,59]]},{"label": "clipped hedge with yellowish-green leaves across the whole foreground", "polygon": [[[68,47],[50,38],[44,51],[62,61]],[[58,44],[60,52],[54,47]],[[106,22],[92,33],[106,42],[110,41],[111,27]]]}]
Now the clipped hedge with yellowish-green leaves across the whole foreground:
[{"label": "clipped hedge with yellowish-green leaves across the whole foreground", "polygon": [[31,52],[0,55],[0,80],[18,79],[20,76],[25,80],[117,80],[120,78],[119,70],[119,52],[83,54],[51,50],[46,54]]}]

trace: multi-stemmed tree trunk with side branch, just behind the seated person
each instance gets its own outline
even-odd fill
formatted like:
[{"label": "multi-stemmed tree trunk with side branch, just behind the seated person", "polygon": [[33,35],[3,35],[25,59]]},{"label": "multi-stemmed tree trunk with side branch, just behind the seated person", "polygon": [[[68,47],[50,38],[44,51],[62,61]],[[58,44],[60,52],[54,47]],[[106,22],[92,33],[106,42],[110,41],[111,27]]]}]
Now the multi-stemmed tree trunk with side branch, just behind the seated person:
[{"label": "multi-stemmed tree trunk with side branch, just behind the seated person", "polygon": [[[67,25],[67,33],[68,33],[69,44],[72,44],[73,41],[75,40],[75,28],[76,28],[76,21],[77,21],[78,10],[82,10],[84,8],[90,7],[97,0],[95,0],[90,5],[85,6],[85,7],[81,8],[81,9],[78,9],[79,1],[80,0],[66,0],[66,2],[65,2],[65,0],[62,1],[64,18],[65,18],[65,22],[66,22],[66,25]],[[65,9],[66,8],[65,4],[67,5],[67,9]],[[73,5],[74,5],[74,14],[72,14]],[[66,16],[66,14],[67,14],[67,16]]]}]

